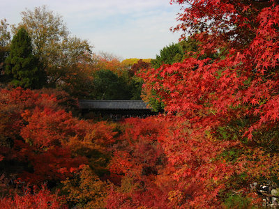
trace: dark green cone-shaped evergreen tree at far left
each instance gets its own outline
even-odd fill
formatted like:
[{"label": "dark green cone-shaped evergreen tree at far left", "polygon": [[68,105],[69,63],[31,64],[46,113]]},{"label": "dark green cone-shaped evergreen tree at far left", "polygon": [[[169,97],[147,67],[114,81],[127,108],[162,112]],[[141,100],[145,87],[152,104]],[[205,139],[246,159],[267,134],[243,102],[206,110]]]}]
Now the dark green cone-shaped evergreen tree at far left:
[{"label": "dark green cone-shaped evergreen tree at far left", "polygon": [[31,38],[21,28],[13,37],[10,54],[5,60],[6,74],[11,75],[11,84],[23,88],[40,88],[45,81],[38,59],[33,56]]}]

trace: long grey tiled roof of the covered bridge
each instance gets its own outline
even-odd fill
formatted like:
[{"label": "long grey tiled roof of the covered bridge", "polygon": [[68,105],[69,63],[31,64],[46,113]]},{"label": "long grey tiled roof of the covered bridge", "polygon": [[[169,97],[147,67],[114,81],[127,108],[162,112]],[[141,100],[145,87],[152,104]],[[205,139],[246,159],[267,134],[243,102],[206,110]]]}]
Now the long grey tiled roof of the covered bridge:
[{"label": "long grey tiled roof of the covered bridge", "polygon": [[80,109],[149,109],[142,100],[79,100]]}]

